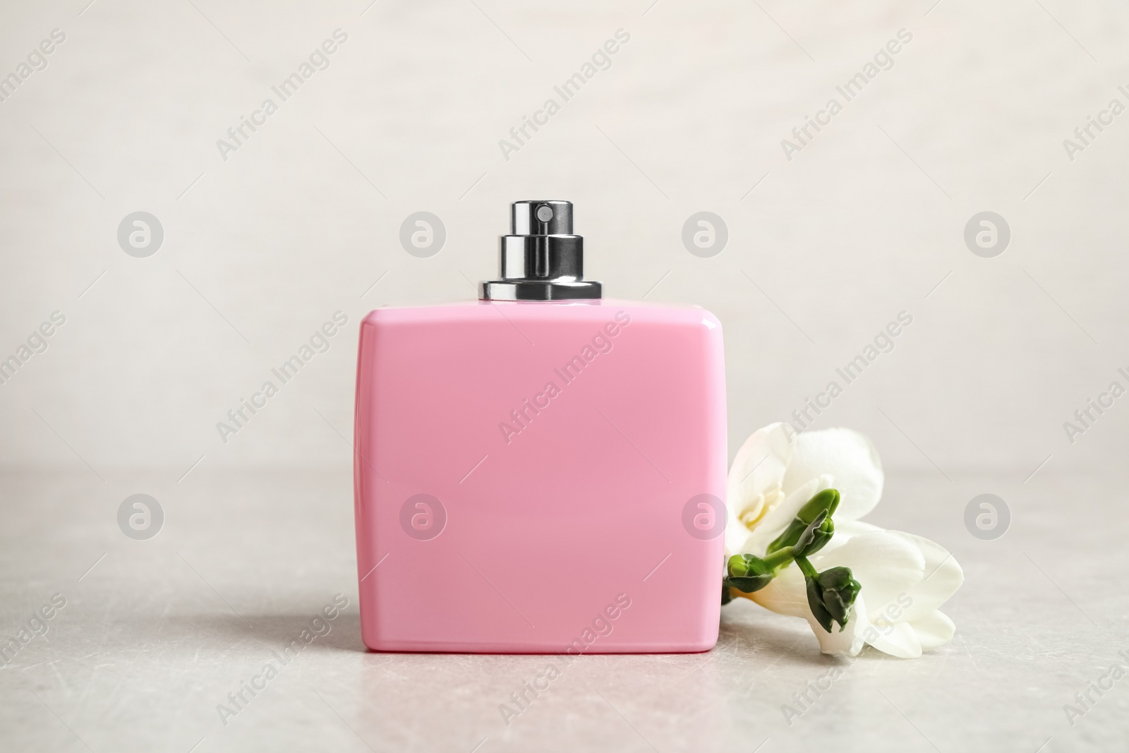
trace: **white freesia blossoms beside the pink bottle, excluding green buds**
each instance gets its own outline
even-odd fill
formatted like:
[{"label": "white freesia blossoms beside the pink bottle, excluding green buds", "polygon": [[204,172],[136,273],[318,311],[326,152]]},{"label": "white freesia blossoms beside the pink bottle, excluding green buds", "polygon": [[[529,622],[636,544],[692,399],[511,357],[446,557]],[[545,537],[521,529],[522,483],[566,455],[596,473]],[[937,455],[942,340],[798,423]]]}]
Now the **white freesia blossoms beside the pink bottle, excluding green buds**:
[{"label": "white freesia blossoms beside the pink bottle, excluding green buds", "polygon": [[787,424],[769,424],[745,441],[729,470],[726,558],[764,557],[807,500],[824,489],[839,490],[834,536],[808,559],[821,572],[848,567],[863,585],[846,629],[833,624],[829,633],[820,625],[795,563],[746,595],[773,612],[805,618],[824,654],[857,656],[869,643],[914,658],[953,637],[953,621],[937,610],[964,583],[964,573],[931,541],[859,520],[878,504],[882,484],[874,445],[849,429],[797,435]]}]

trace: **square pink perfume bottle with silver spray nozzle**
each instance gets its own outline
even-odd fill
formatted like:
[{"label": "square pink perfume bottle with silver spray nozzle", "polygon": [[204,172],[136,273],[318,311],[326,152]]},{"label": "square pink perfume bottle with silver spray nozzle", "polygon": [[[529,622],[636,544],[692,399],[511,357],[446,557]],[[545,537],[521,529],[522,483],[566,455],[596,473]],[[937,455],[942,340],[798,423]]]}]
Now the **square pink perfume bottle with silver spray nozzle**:
[{"label": "square pink perfume bottle with silver spray nozzle", "polygon": [[702,651],[717,642],[721,327],[603,298],[572,204],[519,201],[478,301],[360,325],[365,645]]}]

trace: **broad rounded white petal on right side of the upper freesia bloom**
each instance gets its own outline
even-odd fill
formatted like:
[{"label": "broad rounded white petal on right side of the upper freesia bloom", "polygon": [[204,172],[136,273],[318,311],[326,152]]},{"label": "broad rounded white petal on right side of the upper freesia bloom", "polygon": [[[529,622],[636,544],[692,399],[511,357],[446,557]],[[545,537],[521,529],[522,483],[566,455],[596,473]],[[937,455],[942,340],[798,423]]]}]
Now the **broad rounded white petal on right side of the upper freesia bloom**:
[{"label": "broad rounded white petal on right side of the upper freesia bloom", "polygon": [[786,494],[807,481],[830,473],[841,500],[835,523],[857,520],[878,504],[884,475],[878,450],[865,435],[850,429],[805,431],[796,437],[795,452],[784,478]]}]

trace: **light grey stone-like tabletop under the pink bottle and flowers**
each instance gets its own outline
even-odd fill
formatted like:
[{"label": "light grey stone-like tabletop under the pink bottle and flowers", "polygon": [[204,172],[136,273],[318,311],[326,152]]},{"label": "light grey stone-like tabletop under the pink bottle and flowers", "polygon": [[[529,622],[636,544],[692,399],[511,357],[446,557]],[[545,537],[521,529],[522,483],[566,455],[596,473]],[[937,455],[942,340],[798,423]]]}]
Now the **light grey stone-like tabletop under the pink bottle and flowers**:
[{"label": "light grey stone-like tabletop under the pink bottle and flowers", "polygon": [[[799,620],[741,601],[697,655],[584,656],[506,725],[499,704],[552,657],[376,654],[359,634],[351,479],[336,472],[0,475],[0,636],[65,606],[0,667],[2,751],[1088,751],[1126,750],[1129,513],[1114,476],[891,475],[867,519],[947,546],[965,584],[955,639],[919,659],[819,653]],[[145,491],[166,520],[117,528]],[[973,537],[990,491],[1007,533]],[[91,567],[93,566],[93,567]],[[222,724],[217,704],[335,594],[349,606]],[[444,598],[443,584],[421,598]],[[809,681],[842,676],[799,718]],[[1108,684],[1108,681],[1106,681]],[[809,693],[812,697],[812,693]]]}]

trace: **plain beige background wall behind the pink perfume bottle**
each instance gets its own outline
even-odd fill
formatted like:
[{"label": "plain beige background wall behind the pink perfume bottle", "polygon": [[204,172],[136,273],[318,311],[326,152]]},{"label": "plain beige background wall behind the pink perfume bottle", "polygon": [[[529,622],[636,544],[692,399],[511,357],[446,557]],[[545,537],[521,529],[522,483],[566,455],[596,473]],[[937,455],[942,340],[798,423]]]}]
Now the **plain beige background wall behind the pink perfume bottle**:
[{"label": "plain beige background wall behind the pink perfume bottle", "polygon": [[[67,321],[0,385],[0,462],[95,484],[198,461],[343,469],[358,321],[471,297],[508,202],[561,198],[611,296],[721,319],[730,455],[904,310],[816,427],[938,480],[1120,466],[1129,397],[1073,445],[1062,423],[1129,386],[1129,114],[1074,160],[1062,141],[1129,105],[1129,11],[647,1],[5,3],[0,76],[65,41],[0,103],[0,358]],[[225,160],[217,139],[339,28],[329,68]],[[618,29],[611,67],[505,159]],[[899,29],[893,67],[787,159],[781,139]],[[116,238],[139,210],[165,235],[146,259]],[[429,259],[397,238],[423,210],[447,233]],[[728,227],[710,259],[681,240],[701,210]],[[963,239],[986,210],[1012,230],[994,259]],[[330,350],[222,444],[216,422],[338,310]]]}]

